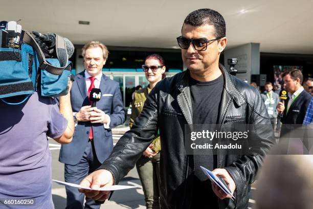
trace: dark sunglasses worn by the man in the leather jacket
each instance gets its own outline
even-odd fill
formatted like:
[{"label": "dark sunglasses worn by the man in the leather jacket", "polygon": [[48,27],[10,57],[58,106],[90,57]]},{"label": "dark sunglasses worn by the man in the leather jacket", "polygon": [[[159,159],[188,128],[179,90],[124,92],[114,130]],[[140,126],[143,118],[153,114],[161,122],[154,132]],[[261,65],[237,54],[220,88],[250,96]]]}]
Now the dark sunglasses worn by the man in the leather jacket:
[{"label": "dark sunglasses worn by the man in the leather jacket", "polygon": [[190,43],[192,43],[192,46],[193,46],[193,48],[195,50],[197,50],[197,51],[205,51],[205,50],[207,50],[208,43],[210,43],[211,41],[214,41],[214,40],[219,40],[221,38],[222,37],[214,38],[214,39],[211,39],[211,40],[207,40],[207,39],[204,39],[204,38],[188,39],[188,38],[185,38],[183,36],[179,36],[176,39],[177,39],[178,45],[182,49],[188,49],[189,46],[190,46]]}]

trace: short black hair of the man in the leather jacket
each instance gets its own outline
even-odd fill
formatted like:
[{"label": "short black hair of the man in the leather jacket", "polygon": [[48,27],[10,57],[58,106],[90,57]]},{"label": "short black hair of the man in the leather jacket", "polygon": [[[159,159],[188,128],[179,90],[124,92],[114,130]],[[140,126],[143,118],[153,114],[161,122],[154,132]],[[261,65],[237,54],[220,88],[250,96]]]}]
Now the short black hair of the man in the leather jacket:
[{"label": "short black hair of the man in the leather jacket", "polygon": [[186,17],[184,24],[194,27],[209,24],[215,28],[216,38],[226,36],[226,24],[224,17],[213,9],[198,9]]}]

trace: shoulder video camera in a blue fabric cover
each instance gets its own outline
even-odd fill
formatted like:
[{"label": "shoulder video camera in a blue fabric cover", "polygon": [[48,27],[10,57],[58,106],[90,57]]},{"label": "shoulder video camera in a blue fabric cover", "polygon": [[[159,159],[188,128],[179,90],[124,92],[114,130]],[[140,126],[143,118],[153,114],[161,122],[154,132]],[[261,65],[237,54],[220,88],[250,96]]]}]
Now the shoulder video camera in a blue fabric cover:
[{"label": "shoulder video camera in a blue fabric cover", "polygon": [[25,96],[38,88],[41,96],[68,93],[74,46],[54,33],[29,33],[14,21],[0,22],[0,99]]}]

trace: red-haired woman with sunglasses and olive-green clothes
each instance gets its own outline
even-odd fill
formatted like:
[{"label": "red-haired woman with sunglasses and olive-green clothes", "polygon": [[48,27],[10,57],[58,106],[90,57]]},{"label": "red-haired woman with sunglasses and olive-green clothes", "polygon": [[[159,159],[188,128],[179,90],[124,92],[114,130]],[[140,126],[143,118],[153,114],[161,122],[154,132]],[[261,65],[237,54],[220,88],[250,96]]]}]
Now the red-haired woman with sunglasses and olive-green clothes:
[{"label": "red-haired woman with sunglasses and olive-green clothes", "polygon": [[[165,77],[166,67],[164,59],[158,54],[151,54],[145,59],[145,65],[142,66],[142,69],[145,72],[146,79],[149,81],[149,85],[135,92],[131,105],[130,128],[136,117],[140,115],[151,89]],[[136,163],[148,209],[160,208],[160,151],[161,141],[158,133]]]}]

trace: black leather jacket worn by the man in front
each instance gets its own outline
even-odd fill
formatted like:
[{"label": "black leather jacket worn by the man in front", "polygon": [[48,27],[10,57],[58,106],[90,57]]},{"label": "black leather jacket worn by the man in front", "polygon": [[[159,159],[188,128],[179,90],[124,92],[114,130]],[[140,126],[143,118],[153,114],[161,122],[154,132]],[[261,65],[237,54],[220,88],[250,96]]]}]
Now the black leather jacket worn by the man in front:
[{"label": "black leather jacket worn by the man in front", "polygon": [[[226,169],[236,184],[235,201],[219,199],[219,208],[248,208],[251,184],[256,179],[265,153],[274,144],[274,132],[259,92],[230,75],[219,65],[224,86],[218,121],[254,124],[259,147],[253,155],[229,155],[219,150],[217,168]],[[135,165],[137,159],[160,129],[161,136],[161,208],[190,208],[194,163],[184,147],[185,124],[192,124],[192,107],[188,70],[160,81],[146,99],[143,111],[132,129],[118,141],[110,157],[99,169],[113,174],[117,184]],[[260,126],[268,124],[268,128]],[[204,204],[209,204],[209,197]]]}]

